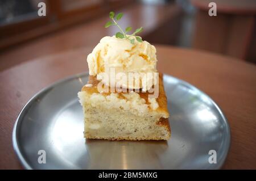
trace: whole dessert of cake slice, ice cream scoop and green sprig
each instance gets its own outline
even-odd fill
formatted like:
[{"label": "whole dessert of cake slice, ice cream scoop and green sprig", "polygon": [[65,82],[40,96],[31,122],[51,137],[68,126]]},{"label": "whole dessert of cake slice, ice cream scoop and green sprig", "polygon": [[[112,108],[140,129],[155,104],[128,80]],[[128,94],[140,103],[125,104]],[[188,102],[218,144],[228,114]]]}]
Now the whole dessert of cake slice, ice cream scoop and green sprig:
[{"label": "whole dessert of cake slice, ice cream scoop and green sprig", "polygon": [[[118,25],[121,18],[121,13],[110,12],[112,21],[105,27]],[[78,93],[85,138],[168,140],[171,136],[156,49],[136,35],[142,28],[128,35],[130,30],[103,37],[87,57],[89,80]]]}]

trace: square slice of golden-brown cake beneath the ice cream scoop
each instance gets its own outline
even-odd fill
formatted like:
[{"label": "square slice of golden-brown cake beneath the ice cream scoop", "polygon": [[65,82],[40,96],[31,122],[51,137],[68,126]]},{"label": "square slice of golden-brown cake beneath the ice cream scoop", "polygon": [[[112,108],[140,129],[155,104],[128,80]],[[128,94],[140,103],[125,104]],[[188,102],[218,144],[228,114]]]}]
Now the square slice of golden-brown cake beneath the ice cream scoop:
[{"label": "square slice of golden-brown cake beneath the ice cream scoop", "polygon": [[159,96],[148,92],[98,92],[95,76],[78,93],[84,111],[84,137],[106,140],[168,140],[167,98],[159,75]]}]

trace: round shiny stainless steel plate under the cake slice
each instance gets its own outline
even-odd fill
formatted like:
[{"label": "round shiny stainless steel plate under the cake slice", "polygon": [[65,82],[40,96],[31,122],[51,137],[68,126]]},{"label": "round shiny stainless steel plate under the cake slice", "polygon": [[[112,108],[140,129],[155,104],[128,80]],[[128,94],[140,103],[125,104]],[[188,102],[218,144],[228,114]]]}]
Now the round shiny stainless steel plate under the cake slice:
[{"label": "round shiny stainless steel plate under the cake slice", "polygon": [[[224,163],[230,144],[224,114],[209,96],[170,75],[164,75],[170,140],[85,140],[77,92],[87,79],[79,74],[57,82],[20,112],[13,145],[26,169],[220,169]],[[46,163],[38,162],[39,150]],[[210,150],[216,163],[209,163]]]}]

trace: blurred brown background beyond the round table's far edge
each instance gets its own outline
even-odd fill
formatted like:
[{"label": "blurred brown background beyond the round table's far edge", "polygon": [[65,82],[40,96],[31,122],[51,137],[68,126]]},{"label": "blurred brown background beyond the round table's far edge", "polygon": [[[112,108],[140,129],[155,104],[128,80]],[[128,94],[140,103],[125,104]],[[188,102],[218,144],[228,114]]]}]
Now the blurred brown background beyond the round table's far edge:
[{"label": "blurred brown background beyond the round table's far edge", "polygon": [[[39,2],[46,4],[46,16],[38,15]],[[217,16],[208,15],[210,2],[216,2]],[[0,0],[0,71],[49,54],[93,48],[117,32],[114,26],[104,28],[109,11],[123,12],[123,28],[143,26],[139,35],[152,44],[256,63],[255,0]]]}]

